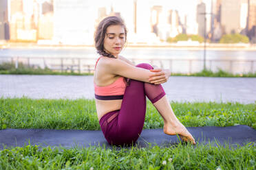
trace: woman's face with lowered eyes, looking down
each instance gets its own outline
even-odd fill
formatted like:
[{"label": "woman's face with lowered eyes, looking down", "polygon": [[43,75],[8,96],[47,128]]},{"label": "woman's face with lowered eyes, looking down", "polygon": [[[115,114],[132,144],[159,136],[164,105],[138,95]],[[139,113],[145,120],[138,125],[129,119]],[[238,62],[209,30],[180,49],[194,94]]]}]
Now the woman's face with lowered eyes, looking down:
[{"label": "woman's face with lowered eyes, looking down", "polygon": [[104,39],[104,49],[118,58],[125,45],[125,29],[121,25],[110,25]]}]

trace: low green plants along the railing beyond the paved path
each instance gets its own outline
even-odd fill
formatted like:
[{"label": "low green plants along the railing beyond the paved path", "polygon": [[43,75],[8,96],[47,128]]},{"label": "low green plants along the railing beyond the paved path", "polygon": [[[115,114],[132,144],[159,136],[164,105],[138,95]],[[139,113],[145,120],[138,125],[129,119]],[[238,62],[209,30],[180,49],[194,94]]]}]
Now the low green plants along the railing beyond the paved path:
[{"label": "low green plants along the railing beyond the paved path", "polygon": [[[0,74],[15,74],[15,75],[93,75],[93,73],[76,73],[74,71],[52,71],[51,69],[45,68],[34,68],[27,66],[23,63],[19,63],[19,68],[15,69],[14,63],[4,62],[0,64]],[[227,71],[219,69],[217,72],[211,70],[202,70],[198,73],[171,73],[173,76],[197,76],[197,77],[256,77],[255,73],[243,73],[243,74],[232,74]]]}]

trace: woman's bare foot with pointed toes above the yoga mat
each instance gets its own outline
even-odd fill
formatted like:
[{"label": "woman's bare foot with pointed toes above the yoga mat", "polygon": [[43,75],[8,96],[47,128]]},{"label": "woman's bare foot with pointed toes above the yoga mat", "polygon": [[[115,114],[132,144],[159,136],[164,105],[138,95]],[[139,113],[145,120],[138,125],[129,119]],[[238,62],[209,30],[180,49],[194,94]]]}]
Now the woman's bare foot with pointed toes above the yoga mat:
[{"label": "woman's bare foot with pointed toes above the yoga mat", "polygon": [[195,145],[195,139],[189,133],[189,131],[186,130],[186,127],[184,127],[184,125],[182,125],[182,123],[180,122],[178,123],[178,125],[167,125],[166,123],[164,123],[164,134],[178,134],[182,138],[182,141],[191,142],[193,145]]}]

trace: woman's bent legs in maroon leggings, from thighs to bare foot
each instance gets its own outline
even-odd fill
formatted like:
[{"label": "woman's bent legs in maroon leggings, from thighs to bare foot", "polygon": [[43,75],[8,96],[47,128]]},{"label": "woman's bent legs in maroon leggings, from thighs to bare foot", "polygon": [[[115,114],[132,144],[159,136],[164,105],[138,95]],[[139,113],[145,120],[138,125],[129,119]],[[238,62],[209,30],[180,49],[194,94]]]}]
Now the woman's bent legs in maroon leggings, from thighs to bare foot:
[{"label": "woman's bent legs in maroon leggings, from thighs to bare foot", "polygon": [[[138,64],[144,69],[153,69],[149,64]],[[180,134],[185,141],[192,141],[193,136],[186,130],[186,127],[178,121],[173,113],[169,101],[165,96],[162,86],[131,80],[130,85],[125,89],[122,99],[122,106],[116,119],[111,122],[109,128],[109,143],[123,145],[136,142],[145,121],[146,98],[156,107],[164,119],[164,133],[169,135]]]}]

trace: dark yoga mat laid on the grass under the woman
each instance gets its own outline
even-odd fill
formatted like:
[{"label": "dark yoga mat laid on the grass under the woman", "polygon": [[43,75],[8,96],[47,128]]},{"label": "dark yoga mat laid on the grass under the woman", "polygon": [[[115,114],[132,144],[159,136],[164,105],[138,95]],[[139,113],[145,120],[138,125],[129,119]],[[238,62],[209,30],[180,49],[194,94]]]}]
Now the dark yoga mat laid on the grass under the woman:
[{"label": "dark yoga mat laid on the grass under the woman", "polygon": [[[189,132],[200,144],[213,143],[213,145],[226,144],[236,147],[239,145],[255,145],[256,130],[247,125],[230,127],[187,127]],[[162,129],[142,130],[142,134],[135,145],[148,147],[158,145],[169,147],[179,142],[177,136],[169,136]],[[151,144],[149,144],[151,143]],[[105,140],[103,133],[97,130],[42,130],[42,129],[6,129],[0,130],[0,149],[8,147],[23,147],[24,145],[40,145],[41,147],[111,147]]]}]

